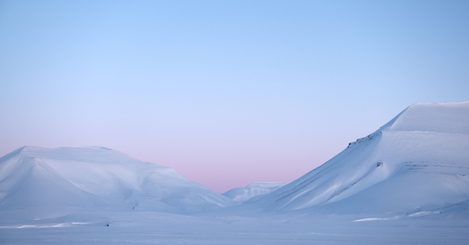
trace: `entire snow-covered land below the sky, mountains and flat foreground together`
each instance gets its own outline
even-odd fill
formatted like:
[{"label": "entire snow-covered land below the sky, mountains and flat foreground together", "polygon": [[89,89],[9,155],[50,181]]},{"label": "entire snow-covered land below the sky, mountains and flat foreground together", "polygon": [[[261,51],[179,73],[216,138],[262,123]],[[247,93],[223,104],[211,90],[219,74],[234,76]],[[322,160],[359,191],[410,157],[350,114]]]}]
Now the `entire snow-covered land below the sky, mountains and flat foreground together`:
[{"label": "entire snow-covered land below the sky, mountains and flat foreground together", "polygon": [[469,102],[415,104],[242,205],[100,147],[25,147],[0,170],[1,244],[469,244]]}]

